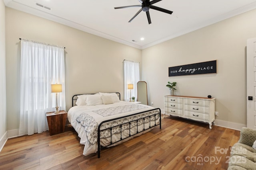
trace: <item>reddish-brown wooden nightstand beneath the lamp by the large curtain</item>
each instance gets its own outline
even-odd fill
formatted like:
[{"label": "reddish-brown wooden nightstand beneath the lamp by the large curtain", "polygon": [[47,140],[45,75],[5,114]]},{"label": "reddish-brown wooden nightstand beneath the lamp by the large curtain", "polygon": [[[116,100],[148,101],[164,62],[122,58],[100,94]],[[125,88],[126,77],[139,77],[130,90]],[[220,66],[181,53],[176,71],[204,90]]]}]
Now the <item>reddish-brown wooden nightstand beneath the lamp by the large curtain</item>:
[{"label": "reddish-brown wooden nightstand beneath the lamp by the large curtain", "polygon": [[68,113],[64,110],[60,111],[60,113],[46,113],[50,135],[64,132],[67,114]]}]

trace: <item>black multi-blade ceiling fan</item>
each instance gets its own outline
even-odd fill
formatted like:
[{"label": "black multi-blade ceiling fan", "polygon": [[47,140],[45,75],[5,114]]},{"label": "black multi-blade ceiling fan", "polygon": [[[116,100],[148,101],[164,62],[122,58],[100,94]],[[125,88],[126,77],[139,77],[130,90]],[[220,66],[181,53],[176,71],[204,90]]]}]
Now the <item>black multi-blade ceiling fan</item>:
[{"label": "black multi-blade ceiling fan", "polygon": [[159,8],[157,6],[153,6],[152,4],[155,4],[156,2],[159,2],[161,0],[138,0],[141,5],[132,5],[132,6],[121,6],[121,7],[115,7],[115,9],[121,9],[121,8],[131,8],[131,7],[141,7],[140,10],[132,17],[132,19],[130,19],[131,22],[138,14],[140,14],[140,12],[144,11],[147,14],[147,18],[148,18],[148,24],[151,23],[151,19],[150,19],[150,15],[149,15],[149,9],[153,9],[153,10],[158,10],[160,12],[165,12],[167,14],[172,14],[172,11],[163,9],[163,8]]}]

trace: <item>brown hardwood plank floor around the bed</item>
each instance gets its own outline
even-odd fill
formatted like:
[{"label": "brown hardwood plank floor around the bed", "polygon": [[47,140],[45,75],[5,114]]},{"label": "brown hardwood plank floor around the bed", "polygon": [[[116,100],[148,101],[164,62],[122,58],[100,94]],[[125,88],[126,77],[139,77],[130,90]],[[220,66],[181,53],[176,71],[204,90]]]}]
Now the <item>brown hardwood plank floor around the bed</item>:
[{"label": "brown hardwood plank floor around the bed", "polygon": [[[230,147],[240,131],[166,116],[162,129],[84,156],[84,145],[67,126],[64,133],[49,131],[8,139],[0,152],[0,170],[226,170]],[[201,159],[200,159],[201,158]]]}]

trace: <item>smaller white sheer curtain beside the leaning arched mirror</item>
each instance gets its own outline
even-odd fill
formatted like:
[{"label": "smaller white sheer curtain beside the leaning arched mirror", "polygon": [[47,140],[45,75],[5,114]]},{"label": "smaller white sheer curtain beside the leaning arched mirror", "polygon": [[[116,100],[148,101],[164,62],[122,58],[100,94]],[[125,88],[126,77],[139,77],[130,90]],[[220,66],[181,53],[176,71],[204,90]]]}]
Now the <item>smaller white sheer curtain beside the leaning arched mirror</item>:
[{"label": "smaller white sheer curtain beside the leaning arched mirror", "polygon": [[140,63],[124,60],[124,101],[130,100],[130,90],[128,84],[133,84],[131,97],[137,100],[137,82],[140,81]]}]

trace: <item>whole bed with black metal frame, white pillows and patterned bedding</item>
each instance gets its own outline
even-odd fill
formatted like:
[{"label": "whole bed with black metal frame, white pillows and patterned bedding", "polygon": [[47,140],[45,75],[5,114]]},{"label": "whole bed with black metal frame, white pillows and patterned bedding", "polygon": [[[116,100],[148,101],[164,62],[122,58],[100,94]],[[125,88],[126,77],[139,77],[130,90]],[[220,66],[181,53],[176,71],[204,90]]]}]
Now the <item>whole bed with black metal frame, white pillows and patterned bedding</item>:
[{"label": "whole bed with black metal frame, white pillows and patterned bedding", "polygon": [[161,129],[161,110],[139,102],[120,101],[120,93],[78,94],[72,97],[68,121],[84,145],[84,155]]}]

